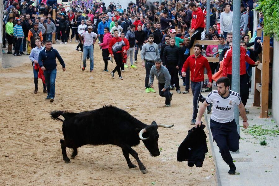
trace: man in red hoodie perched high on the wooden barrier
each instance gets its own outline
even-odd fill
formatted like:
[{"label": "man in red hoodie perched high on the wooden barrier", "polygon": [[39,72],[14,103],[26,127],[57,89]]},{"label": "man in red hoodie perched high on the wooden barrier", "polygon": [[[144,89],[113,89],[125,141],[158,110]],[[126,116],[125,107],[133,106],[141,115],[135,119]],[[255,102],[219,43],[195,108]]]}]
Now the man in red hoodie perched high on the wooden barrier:
[{"label": "man in red hoodie perched high on the wooden barrier", "polygon": [[185,55],[189,55],[190,48],[193,46],[195,39],[201,40],[201,33],[204,31],[206,25],[204,24],[204,16],[200,7],[194,2],[188,4],[189,9],[192,11],[192,23],[189,32],[193,33],[190,39],[190,43],[185,51]]}]

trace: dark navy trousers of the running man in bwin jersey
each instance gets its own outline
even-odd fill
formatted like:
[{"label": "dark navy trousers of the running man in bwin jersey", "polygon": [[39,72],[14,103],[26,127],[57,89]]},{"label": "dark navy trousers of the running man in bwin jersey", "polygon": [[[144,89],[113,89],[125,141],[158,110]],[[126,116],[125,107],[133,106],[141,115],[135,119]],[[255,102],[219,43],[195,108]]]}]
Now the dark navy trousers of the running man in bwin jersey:
[{"label": "dark navy trousers of the running man in bwin jersey", "polygon": [[213,140],[219,147],[219,152],[223,160],[228,165],[232,164],[230,151],[236,152],[238,150],[240,139],[237,133],[237,124],[235,120],[227,123],[219,123],[210,119],[210,130]]}]

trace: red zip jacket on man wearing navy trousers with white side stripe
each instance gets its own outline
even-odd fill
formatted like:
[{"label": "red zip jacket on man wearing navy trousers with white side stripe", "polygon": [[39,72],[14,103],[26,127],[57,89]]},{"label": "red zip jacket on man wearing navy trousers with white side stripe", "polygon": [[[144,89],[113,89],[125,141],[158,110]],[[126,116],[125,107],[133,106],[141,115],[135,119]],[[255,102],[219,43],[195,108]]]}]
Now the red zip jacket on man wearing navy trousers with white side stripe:
[{"label": "red zip jacket on man wearing navy trousers with white side stripe", "polygon": [[181,72],[186,72],[189,66],[191,70],[192,82],[204,81],[204,68],[206,68],[209,82],[211,82],[211,68],[209,66],[208,60],[204,56],[200,54],[196,58],[195,55],[190,55],[184,62]]}]

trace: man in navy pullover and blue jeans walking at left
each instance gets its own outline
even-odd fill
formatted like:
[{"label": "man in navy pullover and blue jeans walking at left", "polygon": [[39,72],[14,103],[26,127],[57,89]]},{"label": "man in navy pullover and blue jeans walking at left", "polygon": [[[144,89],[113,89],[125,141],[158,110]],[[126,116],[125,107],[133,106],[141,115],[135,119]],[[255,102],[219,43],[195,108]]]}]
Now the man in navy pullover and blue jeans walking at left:
[{"label": "man in navy pullover and blue jeans walking at left", "polygon": [[40,51],[39,53],[39,65],[44,71],[44,76],[47,84],[47,98],[50,102],[54,102],[55,94],[55,78],[56,78],[56,60],[58,59],[62,65],[63,71],[65,71],[65,63],[58,53],[57,50],[52,48],[51,40],[45,42],[45,50]]}]

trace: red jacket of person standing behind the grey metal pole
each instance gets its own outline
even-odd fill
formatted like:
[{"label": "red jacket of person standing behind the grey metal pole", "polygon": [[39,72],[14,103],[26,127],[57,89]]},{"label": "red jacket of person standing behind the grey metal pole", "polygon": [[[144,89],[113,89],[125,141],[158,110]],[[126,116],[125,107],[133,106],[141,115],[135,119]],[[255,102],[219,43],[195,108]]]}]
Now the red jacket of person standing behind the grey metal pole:
[{"label": "red jacket of person standing behind the grey metal pole", "polygon": [[[246,64],[255,65],[255,62],[246,54],[246,50],[240,47],[240,75],[246,74]],[[232,74],[232,48],[226,51],[223,63],[223,77],[227,77],[227,74]]]}]

